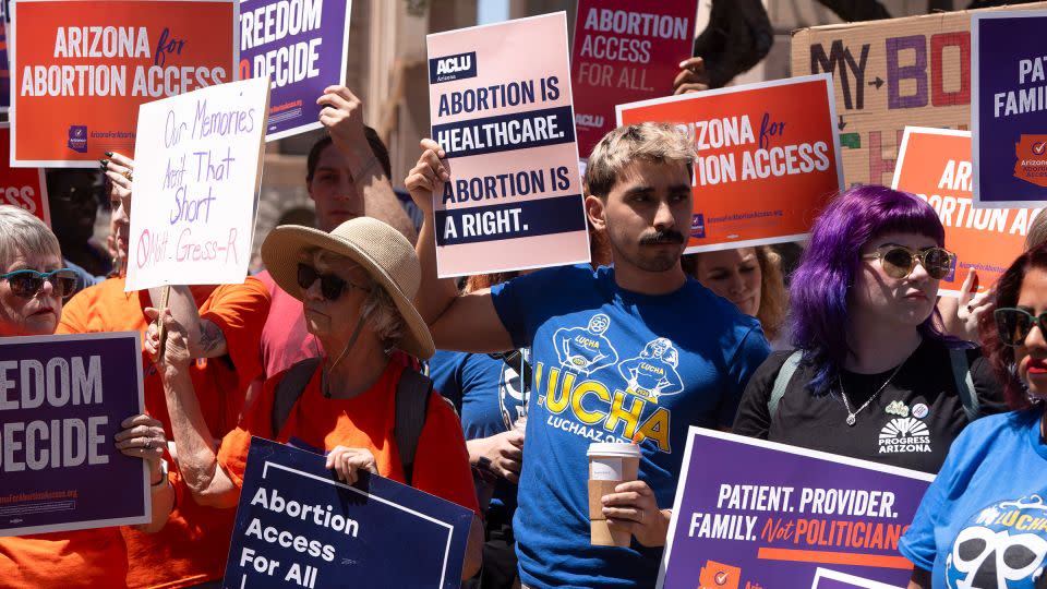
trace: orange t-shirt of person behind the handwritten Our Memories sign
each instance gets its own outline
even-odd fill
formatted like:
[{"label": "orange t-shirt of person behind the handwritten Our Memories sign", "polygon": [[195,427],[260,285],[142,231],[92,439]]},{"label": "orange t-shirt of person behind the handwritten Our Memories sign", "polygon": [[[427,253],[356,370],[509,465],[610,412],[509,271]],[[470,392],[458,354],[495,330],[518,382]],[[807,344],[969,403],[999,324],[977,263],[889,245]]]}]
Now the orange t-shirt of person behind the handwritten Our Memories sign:
[{"label": "orange t-shirt of person behind the handwritten Our Memories sign", "polygon": [[[94,332],[145,333],[148,291],[124,292],[124,279],[110,278],[73,297],[62,311],[60,334]],[[269,309],[262,283],[190,287],[202,318],[215,323],[226,337],[228,354],[200,359],[191,369],[193,386],[212,435],[221,437],[237,423],[248,385],[261,372],[258,337]],[[153,361],[142,353],[145,410],[164,422],[173,440],[164,386]],[[178,504],[164,529],[154,534],[123,528],[130,587],[186,587],[219,579],[232,534],[236,509],[204,507],[193,501],[170,457],[171,482]],[[111,566],[122,566],[115,565]],[[100,586],[100,585],[99,585]]]}]

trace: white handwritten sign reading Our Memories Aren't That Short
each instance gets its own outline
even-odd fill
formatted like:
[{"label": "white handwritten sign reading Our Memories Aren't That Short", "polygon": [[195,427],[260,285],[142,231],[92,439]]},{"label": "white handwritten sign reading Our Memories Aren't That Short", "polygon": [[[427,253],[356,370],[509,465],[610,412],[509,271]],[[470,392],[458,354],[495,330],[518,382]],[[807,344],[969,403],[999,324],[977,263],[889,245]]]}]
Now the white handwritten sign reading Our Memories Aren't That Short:
[{"label": "white handwritten sign reading Our Memories Aren't That Short", "polygon": [[128,290],[243,281],[268,105],[264,77],[142,105]]}]

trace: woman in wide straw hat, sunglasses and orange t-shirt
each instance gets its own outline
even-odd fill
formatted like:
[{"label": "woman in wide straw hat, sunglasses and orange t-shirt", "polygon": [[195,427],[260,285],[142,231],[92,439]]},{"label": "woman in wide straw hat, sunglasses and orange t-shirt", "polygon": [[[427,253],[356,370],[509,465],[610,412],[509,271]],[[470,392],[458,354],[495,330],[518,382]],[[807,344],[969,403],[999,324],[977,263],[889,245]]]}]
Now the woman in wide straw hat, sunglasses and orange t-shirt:
[{"label": "woman in wide straw hat, sunglasses and orange t-shirt", "polygon": [[[420,266],[400,233],[360,217],[330,233],[299,226],[277,227],[262,245],[262,259],[277,285],[302,301],[305,325],[330,356],[305,360],[266,380],[240,425],[214,449],[210,432],[189,381],[183,329],[166,313],[168,330],[161,377],[171,414],[179,466],[194,495],[210,504],[239,501],[251,436],[258,435],[326,454],[326,467],[352,484],[361,470],[407,482],[478,512],[461,424],[431,385],[399,362],[393,348],[418,358],[433,354],[433,339],[411,300]],[[156,310],[148,310],[158,316]],[[151,328],[147,350],[159,338]],[[423,383],[424,425],[413,440],[413,460],[404,442],[397,398],[406,382]],[[411,442],[408,442],[409,444]],[[479,567],[479,520],[473,520],[462,574]]]}]

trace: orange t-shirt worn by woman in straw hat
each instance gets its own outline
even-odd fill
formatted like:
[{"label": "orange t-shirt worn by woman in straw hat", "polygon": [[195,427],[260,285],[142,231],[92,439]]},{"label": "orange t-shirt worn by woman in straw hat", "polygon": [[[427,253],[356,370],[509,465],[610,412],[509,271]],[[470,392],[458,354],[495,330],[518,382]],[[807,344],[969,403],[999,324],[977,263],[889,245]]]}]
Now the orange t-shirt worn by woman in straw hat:
[{"label": "orange t-shirt worn by woman in straw hat", "polygon": [[[243,486],[252,435],[284,444],[293,437],[324,452],[335,446],[369,449],[374,455],[378,474],[404,482],[404,467],[393,435],[396,386],[402,372],[402,364],[390,361],[382,377],[366,392],[350,399],[328,399],[321,393],[321,371],[317,370],[291,409],[284,429],[274,435],[273,402],[276,385],[285,373],[277,374],[265,382],[261,396],[243,416],[240,426],[221,441],[218,462],[237,486]],[[479,516],[469,453],[458,416],[436,392],[430,395],[425,411],[411,485],[472,509]]]}]

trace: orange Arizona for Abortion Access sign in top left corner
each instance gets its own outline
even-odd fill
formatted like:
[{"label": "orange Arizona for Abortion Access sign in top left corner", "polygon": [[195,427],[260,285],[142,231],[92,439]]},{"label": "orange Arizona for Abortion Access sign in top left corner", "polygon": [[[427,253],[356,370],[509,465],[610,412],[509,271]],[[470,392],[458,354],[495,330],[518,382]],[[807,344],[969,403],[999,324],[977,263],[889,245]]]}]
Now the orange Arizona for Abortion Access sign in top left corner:
[{"label": "orange Arizona for Abortion Access sign in top left corner", "polygon": [[19,0],[12,9],[12,166],[93,167],[105,152],[131,154],[140,105],[237,73],[233,0]]}]

